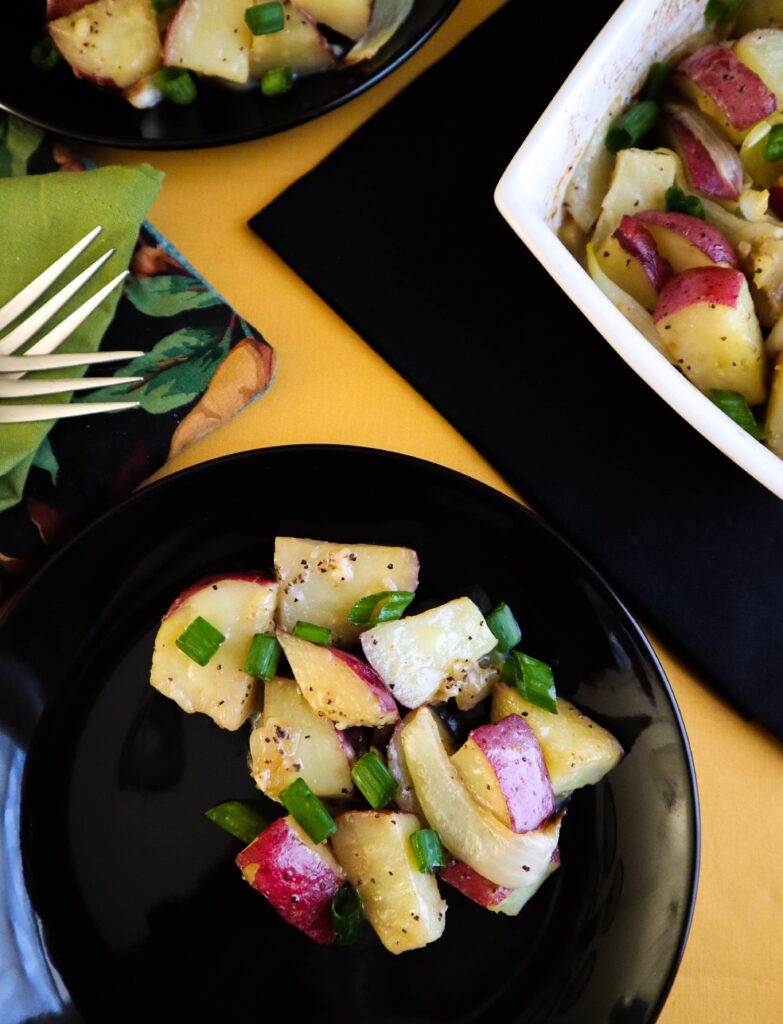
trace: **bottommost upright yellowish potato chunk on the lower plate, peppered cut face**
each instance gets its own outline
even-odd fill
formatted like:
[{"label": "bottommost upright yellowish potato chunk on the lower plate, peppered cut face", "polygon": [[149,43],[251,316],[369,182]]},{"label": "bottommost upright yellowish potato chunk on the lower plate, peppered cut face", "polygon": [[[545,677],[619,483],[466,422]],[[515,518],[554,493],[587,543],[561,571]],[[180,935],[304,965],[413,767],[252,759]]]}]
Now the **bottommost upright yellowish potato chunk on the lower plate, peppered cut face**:
[{"label": "bottommost upright yellowish potato chunk on the lower plate, peppered cut face", "polygon": [[446,925],[435,876],[419,870],[410,848],[410,836],[421,827],[415,814],[403,811],[349,811],[337,819],[332,837],[364,915],[391,953],[434,942]]}]

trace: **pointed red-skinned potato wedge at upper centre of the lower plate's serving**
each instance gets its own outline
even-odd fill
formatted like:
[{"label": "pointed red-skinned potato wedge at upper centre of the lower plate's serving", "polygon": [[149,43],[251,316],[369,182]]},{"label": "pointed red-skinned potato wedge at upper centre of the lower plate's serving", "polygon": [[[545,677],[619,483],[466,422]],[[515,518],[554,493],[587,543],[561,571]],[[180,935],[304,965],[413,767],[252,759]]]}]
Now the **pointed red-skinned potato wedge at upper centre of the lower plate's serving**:
[{"label": "pointed red-skinned potato wedge at upper centre of the lower plate's serving", "polygon": [[307,702],[338,729],[380,728],[399,721],[397,705],[383,680],[353,654],[279,630],[277,639]]}]

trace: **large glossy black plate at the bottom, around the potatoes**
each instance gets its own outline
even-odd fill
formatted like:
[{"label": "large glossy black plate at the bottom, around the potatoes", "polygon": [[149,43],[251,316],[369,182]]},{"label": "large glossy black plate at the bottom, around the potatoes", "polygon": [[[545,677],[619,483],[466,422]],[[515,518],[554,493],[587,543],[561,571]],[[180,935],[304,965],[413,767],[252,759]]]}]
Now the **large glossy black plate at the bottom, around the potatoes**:
[{"label": "large glossy black plate at the bottom, around the potatoes", "polygon": [[[621,764],[574,796],[562,868],[519,918],[442,886],[444,936],[392,956],[372,933],[317,946],[243,882],[237,844],[203,812],[258,797],[247,731],[182,714],[147,678],[178,591],[269,566],[276,534],[415,547],[420,607],[508,601],[559,692],[623,744]],[[680,713],[608,586],[489,487],[332,445],[188,469],[98,520],[27,587],[0,628],[0,679],[4,1024],[656,1019],[698,871]]]}]

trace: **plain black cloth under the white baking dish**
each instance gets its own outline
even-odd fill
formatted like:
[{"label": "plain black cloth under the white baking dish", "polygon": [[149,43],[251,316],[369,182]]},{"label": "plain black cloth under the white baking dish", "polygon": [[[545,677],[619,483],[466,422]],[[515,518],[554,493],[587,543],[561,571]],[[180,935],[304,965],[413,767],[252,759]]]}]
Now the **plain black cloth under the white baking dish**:
[{"label": "plain black cloth under the white baking dish", "polygon": [[511,0],[251,226],[783,738],[783,503],[622,362],[492,201],[611,11]]}]

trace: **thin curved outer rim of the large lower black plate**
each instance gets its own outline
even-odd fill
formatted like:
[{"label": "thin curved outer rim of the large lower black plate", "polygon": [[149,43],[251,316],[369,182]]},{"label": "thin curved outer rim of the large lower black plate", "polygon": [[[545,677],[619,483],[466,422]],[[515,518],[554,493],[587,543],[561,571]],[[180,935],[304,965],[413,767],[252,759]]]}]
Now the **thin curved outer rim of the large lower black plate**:
[{"label": "thin curved outer rim of the large lower black plate", "polygon": [[[275,454],[279,456],[285,456],[288,452],[296,452],[298,454],[309,453],[312,455],[317,455],[320,458],[328,457],[330,454],[340,453],[342,455],[358,454],[363,457],[372,457],[387,460],[393,463],[415,463],[421,467],[427,468],[435,476],[447,477],[453,481],[459,481],[461,486],[469,487],[478,494],[486,495],[489,493],[493,501],[499,501],[502,504],[506,504],[515,509],[516,514],[521,515],[523,518],[532,520],[535,522],[537,528],[543,529],[548,532],[556,542],[563,545],[569,553],[576,559],[577,562],[581,564],[586,573],[593,578],[598,588],[603,591],[603,596],[609,600],[610,603],[614,603],[621,613],[622,617],[625,620],[626,627],[629,634],[633,636],[635,642],[639,645],[640,650],[645,654],[655,673],[658,676],[658,682],[661,685],[662,692],[666,697],[671,714],[677,724],[678,731],[680,733],[680,738],[683,746],[683,752],[685,754],[686,767],[688,770],[688,781],[689,781],[689,797],[691,805],[691,825],[693,830],[693,845],[691,850],[691,870],[690,870],[690,883],[688,892],[688,910],[684,916],[683,927],[681,929],[680,935],[678,936],[677,943],[672,949],[672,955],[669,964],[668,971],[666,973],[666,978],[658,992],[657,998],[653,1004],[654,1016],[651,1020],[657,1020],[663,1009],[663,1006],[671,991],[671,986],[675,983],[680,965],[685,953],[685,948],[688,943],[688,938],[691,931],[691,926],[693,924],[693,915],[696,907],[696,899],[698,894],[698,884],[699,884],[699,872],[700,872],[700,862],[701,862],[701,810],[699,803],[699,792],[698,782],[696,778],[696,769],[693,761],[693,753],[691,751],[691,743],[688,737],[688,732],[685,727],[685,722],[683,721],[683,716],[680,711],[680,707],[675,696],[673,690],[671,689],[671,684],[666,677],[663,667],[660,664],[658,655],[652,647],[652,644],[645,635],[642,627],[637,622],[636,617],[626,607],[624,601],[619,597],[614,588],[608,581],[603,577],[603,574],[596,569],[588,559],[580,554],[580,552],[574,548],[574,546],[564,538],[558,529],[552,526],[546,519],[539,516],[537,513],[527,508],[526,506],[505,495],[503,492],[497,490],[494,487],[489,486],[489,484],[483,483],[474,477],[468,476],[465,473],[461,473],[459,470],[451,469],[447,466],[441,466],[438,463],[430,462],[427,459],[420,459],[417,456],[404,455],[400,452],[389,452],[384,449],[377,449],[373,446],[364,445],[354,445],[354,444],[279,444],[272,445],[269,447],[256,447],[249,449],[244,452],[235,452],[230,455],[220,456],[215,459],[208,459],[204,462],[197,463],[193,466],[188,466],[176,473],[172,473],[162,479],[155,480],[154,482],[142,486],[139,490],[136,490],[130,498],[126,499],[120,505],[116,505],[114,508],[108,509],[101,516],[95,519],[92,523],[86,526],[81,532],[77,534],[68,544],[66,544],[59,551],[57,551],[45,565],[43,565],[38,572],[26,584],[16,599],[11,604],[10,608],[6,609],[5,614],[0,618],[0,631],[9,629],[14,620],[25,613],[25,606],[27,603],[27,598],[31,594],[34,588],[41,585],[42,580],[45,581],[47,570],[49,566],[53,565],[59,559],[63,558],[69,554],[72,548],[77,545],[83,544],[85,541],[89,540],[89,535],[93,527],[102,524],[110,520],[112,517],[118,514],[121,510],[125,512],[128,508],[135,505],[143,504],[146,497],[150,493],[158,493],[161,489],[167,489],[171,486],[176,486],[181,478],[190,478],[193,476],[199,476],[202,474],[209,474],[211,467],[215,464],[222,464],[226,462],[251,462],[260,454]],[[27,766],[26,766],[27,767]]]}]

